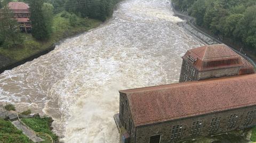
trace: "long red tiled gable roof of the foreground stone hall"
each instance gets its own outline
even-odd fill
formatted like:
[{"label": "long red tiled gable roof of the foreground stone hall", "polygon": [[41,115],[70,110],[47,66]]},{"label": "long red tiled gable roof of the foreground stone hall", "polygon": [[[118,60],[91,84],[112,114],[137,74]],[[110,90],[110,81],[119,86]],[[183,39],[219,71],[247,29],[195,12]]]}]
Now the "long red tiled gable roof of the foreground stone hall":
[{"label": "long red tiled gable roof of the foreground stone hall", "polygon": [[256,105],[256,74],[121,90],[135,127]]}]

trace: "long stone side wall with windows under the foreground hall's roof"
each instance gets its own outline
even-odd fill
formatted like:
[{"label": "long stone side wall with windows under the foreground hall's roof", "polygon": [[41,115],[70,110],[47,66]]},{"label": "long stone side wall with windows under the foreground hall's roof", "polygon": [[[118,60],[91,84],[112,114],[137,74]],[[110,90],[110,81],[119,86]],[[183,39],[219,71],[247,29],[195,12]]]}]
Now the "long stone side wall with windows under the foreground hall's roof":
[{"label": "long stone side wall with windows under the foreground hall's roof", "polygon": [[[142,127],[137,127],[135,142],[149,143],[151,136],[161,135],[161,142],[167,143],[167,142],[174,142],[177,140],[186,140],[186,139],[195,138],[195,137],[208,136],[210,134],[218,134],[222,132],[231,131],[237,128],[251,127],[252,125],[256,124],[256,120],[254,119],[255,112],[253,112],[253,115],[251,115],[252,117],[251,123],[244,124],[244,121],[246,119],[247,113],[249,112],[251,113],[251,111],[255,111],[255,110],[256,110],[256,106],[244,107],[236,110],[229,110],[225,112],[201,115],[196,117],[190,117],[187,119],[180,119],[176,121],[156,123],[151,125],[145,125]],[[229,121],[231,115],[234,115],[234,116],[232,116],[231,120]],[[213,129],[214,122],[211,126],[211,121],[213,119],[214,121],[215,119],[217,119],[215,123],[217,123],[218,119],[220,119],[220,123],[218,128],[217,128],[217,125],[215,125],[214,129],[216,130],[209,131],[211,127]],[[233,121],[233,124],[231,124],[231,121]],[[235,121],[236,123],[234,124]],[[192,135],[191,130],[194,122],[195,122],[194,132],[193,132],[194,135]],[[198,124],[202,123],[200,128],[197,126],[197,130],[195,130],[196,123]],[[234,125],[234,127],[227,127],[228,123],[230,126]],[[177,131],[177,134],[175,134],[175,131],[172,132],[172,129],[175,130],[177,126],[178,126],[178,131]],[[131,141],[131,143],[134,143],[134,142]]]}]

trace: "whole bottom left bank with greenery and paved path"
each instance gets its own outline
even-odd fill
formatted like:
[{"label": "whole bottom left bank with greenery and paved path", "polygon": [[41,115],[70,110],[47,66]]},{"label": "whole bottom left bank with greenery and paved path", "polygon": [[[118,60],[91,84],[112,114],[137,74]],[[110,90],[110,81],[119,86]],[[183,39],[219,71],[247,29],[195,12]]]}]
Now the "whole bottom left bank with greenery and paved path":
[{"label": "whole bottom left bank with greenery and paved path", "polygon": [[17,113],[12,104],[0,105],[0,142],[33,143],[38,138],[42,143],[52,143],[52,140],[58,143],[58,136],[52,132],[52,122],[51,117],[31,114],[30,110]]}]

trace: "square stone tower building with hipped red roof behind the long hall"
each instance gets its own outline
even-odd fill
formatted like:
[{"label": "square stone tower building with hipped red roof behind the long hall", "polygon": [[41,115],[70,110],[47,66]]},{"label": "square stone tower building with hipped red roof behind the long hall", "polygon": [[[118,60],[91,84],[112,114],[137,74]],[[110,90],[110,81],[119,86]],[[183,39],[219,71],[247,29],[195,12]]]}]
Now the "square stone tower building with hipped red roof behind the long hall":
[{"label": "square stone tower building with hipped red roof behind the long hall", "polygon": [[182,59],[180,82],[254,73],[249,62],[224,44],[190,49]]}]

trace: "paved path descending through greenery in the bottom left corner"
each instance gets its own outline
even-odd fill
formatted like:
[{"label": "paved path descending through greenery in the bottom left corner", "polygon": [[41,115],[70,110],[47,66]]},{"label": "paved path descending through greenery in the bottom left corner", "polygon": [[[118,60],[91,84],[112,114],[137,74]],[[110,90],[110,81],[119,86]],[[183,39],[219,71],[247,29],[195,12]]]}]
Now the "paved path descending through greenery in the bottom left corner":
[{"label": "paved path descending through greenery in the bottom left corner", "polygon": [[12,121],[12,124],[19,130],[21,130],[23,132],[23,134],[25,134],[30,140],[32,140],[33,142],[41,142],[44,141],[44,139],[39,138],[36,136],[36,134],[29,130],[28,128],[26,128],[23,124],[21,124],[18,120],[17,121]]}]

